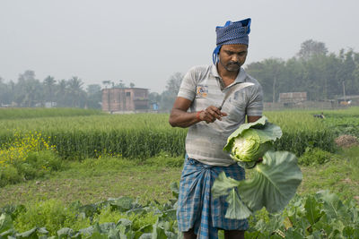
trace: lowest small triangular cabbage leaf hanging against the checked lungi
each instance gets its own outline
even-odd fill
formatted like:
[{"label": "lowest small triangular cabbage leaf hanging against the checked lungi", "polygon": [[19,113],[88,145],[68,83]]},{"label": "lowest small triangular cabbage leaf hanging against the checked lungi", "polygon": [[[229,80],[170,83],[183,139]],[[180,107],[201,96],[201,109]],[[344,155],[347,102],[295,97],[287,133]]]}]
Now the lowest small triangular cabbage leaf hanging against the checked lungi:
[{"label": "lowest small triangular cabbage leaf hanging against the checked lungi", "polygon": [[248,209],[247,206],[243,204],[234,188],[228,195],[227,202],[229,205],[224,216],[225,218],[245,219],[249,218],[252,214],[250,209]]}]

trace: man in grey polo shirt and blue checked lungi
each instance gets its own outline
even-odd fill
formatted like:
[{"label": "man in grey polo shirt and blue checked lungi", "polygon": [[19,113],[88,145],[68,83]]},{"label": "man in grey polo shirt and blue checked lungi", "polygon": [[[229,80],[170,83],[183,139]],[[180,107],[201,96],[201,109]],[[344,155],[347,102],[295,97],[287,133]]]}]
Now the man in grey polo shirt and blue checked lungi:
[{"label": "man in grey polo shirt and blue checked lungi", "polygon": [[[189,127],[186,160],[180,179],[177,218],[187,238],[244,238],[247,220],[224,218],[225,197],[211,197],[211,187],[222,171],[236,180],[244,179],[244,169],[223,151],[228,136],[241,124],[257,121],[262,115],[262,90],[258,81],[241,68],[247,53],[250,19],[227,21],[216,28],[214,64],[189,70],[171,110],[170,124]],[[220,107],[225,93],[233,86],[250,82],[232,92]],[[189,110],[188,110],[189,109]]]}]

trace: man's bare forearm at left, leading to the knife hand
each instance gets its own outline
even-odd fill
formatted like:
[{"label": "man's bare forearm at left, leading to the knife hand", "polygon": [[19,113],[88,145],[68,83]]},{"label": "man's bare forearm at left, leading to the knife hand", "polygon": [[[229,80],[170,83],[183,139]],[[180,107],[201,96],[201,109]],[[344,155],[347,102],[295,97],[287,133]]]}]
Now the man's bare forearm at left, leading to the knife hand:
[{"label": "man's bare forearm at left, leading to the knife hand", "polygon": [[187,128],[192,124],[198,123],[197,112],[189,113],[180,109],[173,108],[170,115],[170,124],[172,127]]}]

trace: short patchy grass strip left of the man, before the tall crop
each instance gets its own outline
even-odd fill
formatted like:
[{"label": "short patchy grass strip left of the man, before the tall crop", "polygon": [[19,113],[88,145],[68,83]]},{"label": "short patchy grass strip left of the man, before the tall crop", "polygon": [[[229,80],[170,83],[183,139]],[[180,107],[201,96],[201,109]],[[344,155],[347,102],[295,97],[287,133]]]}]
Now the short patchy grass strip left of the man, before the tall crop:
[{"label": "short patchy grass strip left of the man, before the tall crop", "polygon": [[140,201],[165,202],[171,198],[170,184],[180,179],[183,159],[164,157],[149,158],[147,162],[123,158],[68,161],[65,171],[0,188],[0,208],[55,198],[64,203],[87,204],[125,195],[139,197]]}]

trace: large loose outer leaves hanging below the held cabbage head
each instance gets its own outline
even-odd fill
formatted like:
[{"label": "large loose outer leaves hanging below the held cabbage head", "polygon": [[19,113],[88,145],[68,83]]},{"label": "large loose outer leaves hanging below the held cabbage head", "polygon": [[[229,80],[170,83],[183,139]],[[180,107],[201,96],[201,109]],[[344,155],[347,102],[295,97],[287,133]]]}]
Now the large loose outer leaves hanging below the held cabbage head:
[{"label": "large loose outer leaves hanging below the held cabbage head", "polygon": [[[263,207],[270,213],[282,210],[302,182],[297,158],[287,151],[267,151],[254,171],[255,174],[248,180],[237,181],[224,172],[215,179],[213,196],[226,195],[229,203],[226,218],[248,218],[251,212]],[[232,192],[233,188],[238,195]]]}]

